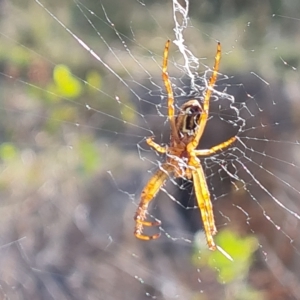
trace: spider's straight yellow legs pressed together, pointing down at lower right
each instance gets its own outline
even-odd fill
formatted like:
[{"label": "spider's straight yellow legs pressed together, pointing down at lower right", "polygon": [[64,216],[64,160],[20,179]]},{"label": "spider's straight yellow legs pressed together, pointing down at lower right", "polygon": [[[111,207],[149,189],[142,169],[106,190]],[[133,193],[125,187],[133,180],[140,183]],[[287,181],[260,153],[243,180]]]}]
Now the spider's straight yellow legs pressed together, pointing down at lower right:
[{"label": "spider's straight yellow legs pressed together, pointing down at lower right", "polygon": [[203,168],[196,158],[191,159],[191,170],[193,175],[194,189],[198,206],[201,211],[203,227],[205,231],[207,245],[210,250],[216,250],[213,235],[217,233],[215,226],[213,207],[210,200],[210,194],[207,187]]}]

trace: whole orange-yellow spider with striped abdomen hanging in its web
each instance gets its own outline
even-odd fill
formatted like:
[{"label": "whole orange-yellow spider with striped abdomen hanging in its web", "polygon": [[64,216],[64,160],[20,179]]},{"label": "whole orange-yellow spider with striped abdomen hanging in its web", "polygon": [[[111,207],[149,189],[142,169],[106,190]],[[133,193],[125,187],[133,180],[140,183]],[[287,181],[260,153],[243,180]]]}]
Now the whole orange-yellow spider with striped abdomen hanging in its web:
[{"label": "whole orange-yellow spider with striped abdomen hanging in its web", "polygon": [[224,141],[210,149],[196,149],[203,135],[209,116],[210,97],[216,83],[219,64],[221,59],[221,44],[217,44],[217,53],[212,75],[208,86],[204,91],[203,104],[197,100],[189,100],[184,103],[175,115],[174,95],[171,81],[167,73],[168,55],[170,40],[165,44],[163,52],[162,78],[168,94],[168,119],[171,127],[170,144],[160,146],[147,138],[147,144],[159,153],[166,154],[166,161],[162,163],[159,170],[150,178],[142,190],[141,200],[135,214],[134,235],[142,240],[153,240],[160,236],[160,233],[147,236],[143,234],[144,227],[160,226],[160,221],[147,221],[146,214],[149,203],[156,196],[169,176],[181,177],[193,180],[197,204],[201,212],[206,241],[210,250],[216,250],[213,236],[217,233],[214,221],[213,207],[210,200],[210,193],[206,183],[204,171],[197,156],[207,156],[223,150],[235,142],[236,136]]}]

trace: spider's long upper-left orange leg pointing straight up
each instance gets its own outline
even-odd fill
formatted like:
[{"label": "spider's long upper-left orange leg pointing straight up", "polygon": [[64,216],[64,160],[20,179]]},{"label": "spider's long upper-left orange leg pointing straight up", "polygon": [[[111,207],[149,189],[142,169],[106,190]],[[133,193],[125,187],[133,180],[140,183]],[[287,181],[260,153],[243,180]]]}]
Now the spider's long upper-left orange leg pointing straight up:
[{"label": "spider's long upper-left orange leg pointing straight up", "polygon": [[162,65],[162,77],[163,82],[168,93],[168,117],[171,126],[171,136],[174,136],[176,140],[179,140],[178,132],[175,126],[175,108],[174,108],[174,94],[172,90],[172,84],[167,72],[168,68],[168,56],[169,56],[169,47],[170,47],[170,40],[167,40],[164,50],[164,57],[163,57],[163,65]]}]

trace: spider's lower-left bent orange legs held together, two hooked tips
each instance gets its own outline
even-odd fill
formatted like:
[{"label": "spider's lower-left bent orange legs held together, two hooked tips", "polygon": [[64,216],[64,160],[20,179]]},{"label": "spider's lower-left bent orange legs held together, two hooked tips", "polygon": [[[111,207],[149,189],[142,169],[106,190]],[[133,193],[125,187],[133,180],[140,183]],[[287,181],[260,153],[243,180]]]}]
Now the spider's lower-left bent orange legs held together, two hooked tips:
[{"label": "spider's lower-left bent orange legs held together, two hooked tips", "polygon": [[135,214],[135,230],[134,235],[141,239],[141,240],[153,240],[157,239],[160,236],[160,233],[154,234],[152,236],[147,236],[143,234],[144,226],[159,226],[161,223],[160,221],[156,222],[149,222],[145,221],[147,209],[149,206],[149,203],[153,200],[153,198],[158,193],[161,186],[164,184],[166,179],[169,176],[169,173],[172,172],[173,167],[172,165],[169,165],[167,163],[163,164],[159,170],[156,171],[156,173],[150,178],[144,189],[141,193],[141,201],[139,203],[139,206],[137,208],[136,214]]}]

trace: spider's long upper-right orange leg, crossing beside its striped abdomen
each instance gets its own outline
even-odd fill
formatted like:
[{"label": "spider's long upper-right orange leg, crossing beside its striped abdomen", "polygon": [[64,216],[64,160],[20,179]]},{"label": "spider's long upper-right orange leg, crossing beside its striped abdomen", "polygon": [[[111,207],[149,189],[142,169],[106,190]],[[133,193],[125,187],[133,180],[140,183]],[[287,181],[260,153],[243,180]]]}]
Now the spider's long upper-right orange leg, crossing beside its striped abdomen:
[{"label": "spider's long upper-right orange leg, crossing beside its striped abdomen", "polygon": [[220,59],[221,59],[221,44],[220,44],[220,42],[218,42],[213,73],[212,73],[212,75],[209,79],[208,86],[207,86],[207,88],[205,90],[205,93],[204,93],[202,112],[201,112],[201,115],[200,115],[200,118],[199,118],[199,121],[198,121],[199,127],[197,129],[195,138],[187,145],[187,151],[188,152],[196,149],[196,147],[199,144],[200,138],[203,135],[203,131],[205,129],[207,119],[208,119],[208,114],[209,114],[210,97],[211,97],[213,87],[214,87],[214,85],[217,81],[217,77],[218,77]]}]

